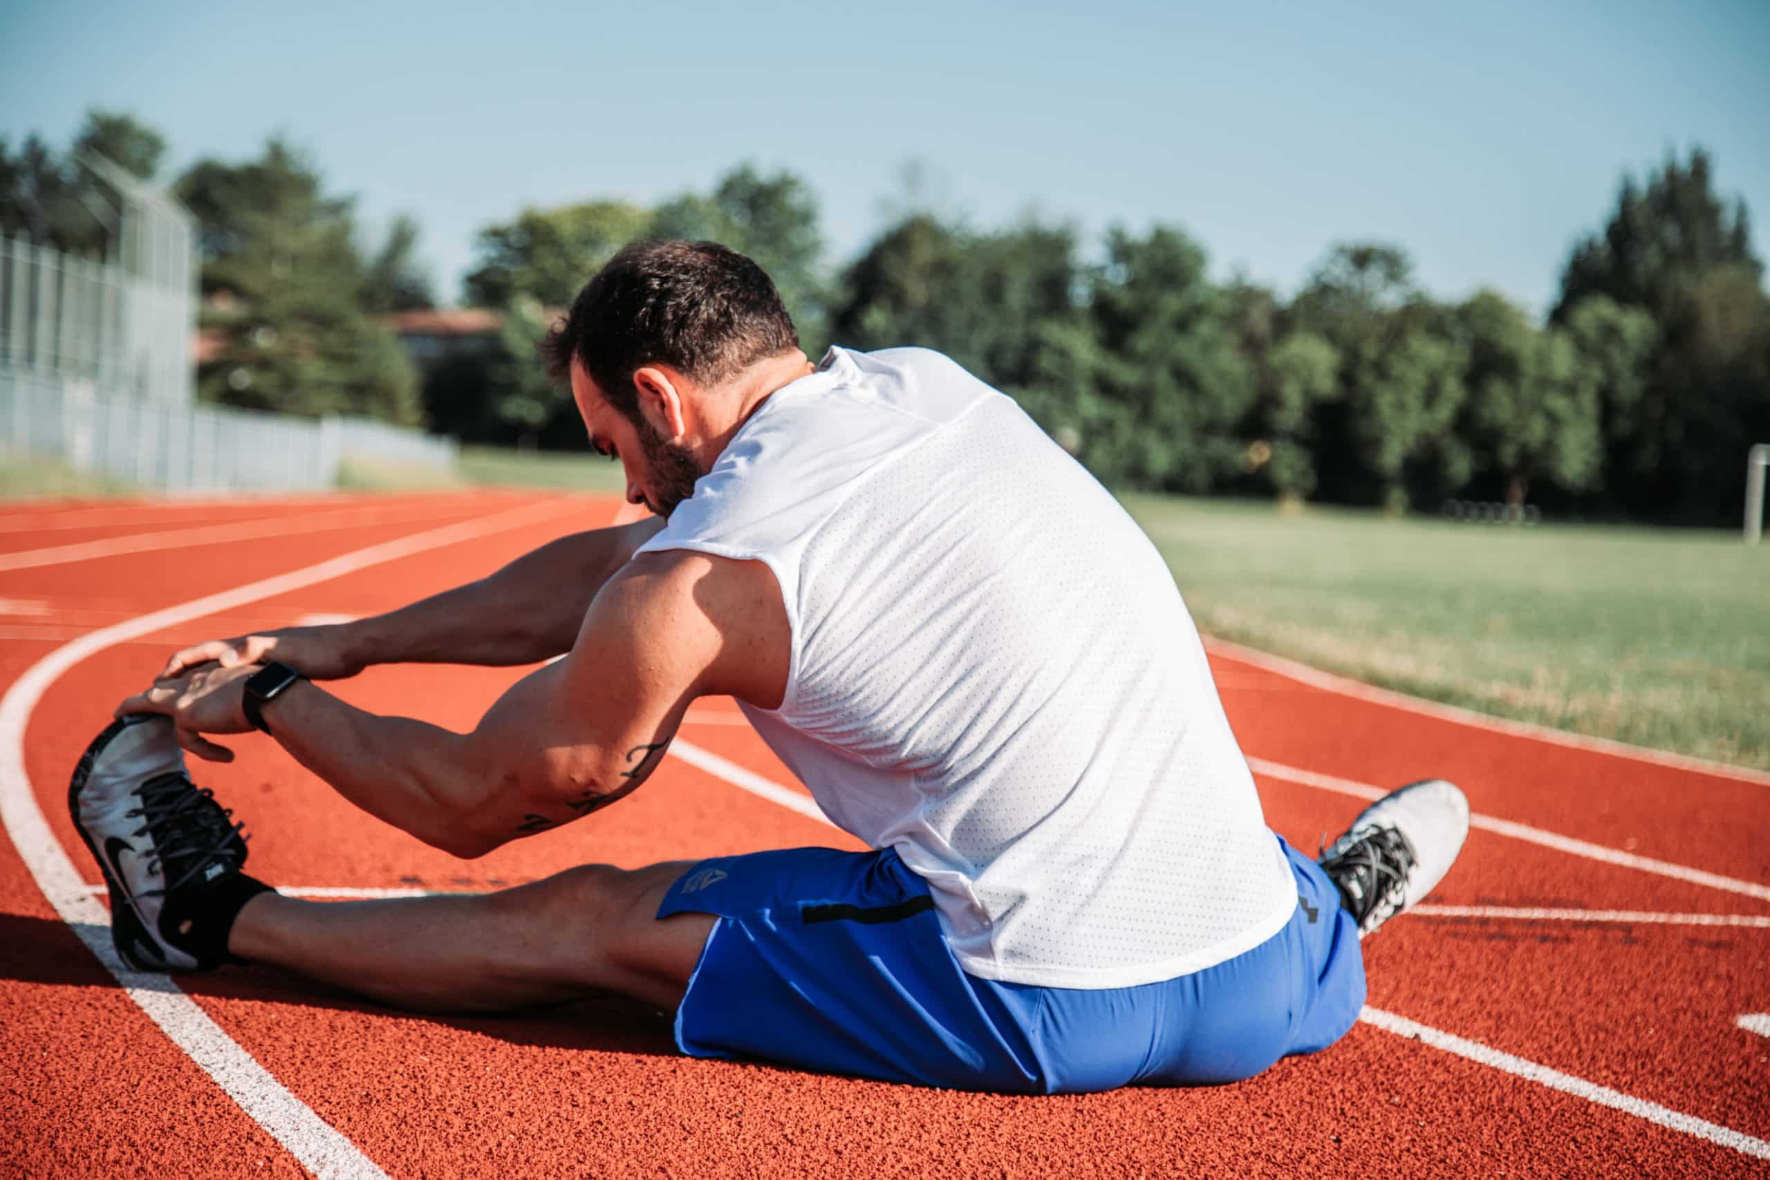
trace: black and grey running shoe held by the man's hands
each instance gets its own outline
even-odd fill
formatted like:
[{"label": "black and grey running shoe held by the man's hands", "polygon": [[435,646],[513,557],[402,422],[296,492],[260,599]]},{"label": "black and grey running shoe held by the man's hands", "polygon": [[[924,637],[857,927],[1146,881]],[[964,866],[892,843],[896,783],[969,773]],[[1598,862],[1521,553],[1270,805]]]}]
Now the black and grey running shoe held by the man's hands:
[{"label": "black and grey running shoe held by the man's hands", "polygon": [[[110,888],[112,941],[136,971],[209,971],[223,948],[191,938],[200,900],[237,892],[246,839],[232,812],[184,770],[172,722],[119,716],[87,747],[67,787],[92,858]],[[209,939],[212,941],[212,939]]]}]

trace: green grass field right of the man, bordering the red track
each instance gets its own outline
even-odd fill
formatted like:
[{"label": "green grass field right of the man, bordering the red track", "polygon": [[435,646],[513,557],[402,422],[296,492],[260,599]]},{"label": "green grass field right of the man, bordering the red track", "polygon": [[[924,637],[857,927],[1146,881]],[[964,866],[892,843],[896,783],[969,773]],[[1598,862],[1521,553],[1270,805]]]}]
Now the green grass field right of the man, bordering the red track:
[{"label": "green grass field right of the man, bordering the red track", "polygon": [[1770,770],[1770,547],[1126,497],[1198,626],[1483,713]]}]

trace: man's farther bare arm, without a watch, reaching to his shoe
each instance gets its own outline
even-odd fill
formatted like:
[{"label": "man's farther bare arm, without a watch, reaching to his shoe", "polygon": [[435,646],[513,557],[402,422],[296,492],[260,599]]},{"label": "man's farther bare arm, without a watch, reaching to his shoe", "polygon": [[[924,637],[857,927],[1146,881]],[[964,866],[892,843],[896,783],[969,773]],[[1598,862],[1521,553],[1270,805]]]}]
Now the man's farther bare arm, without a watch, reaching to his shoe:
[{"label": "man's farther bare arm, without a watch, reaching to his shoe", "polygon": [[368,619],[214,639],[175,653],[159,678],[211,660],[280,660],[310,679],[342,679],[375,663],[550,660],[572,649],[591,600],[662,527],[639,520],[563,536],[497,573]]}]

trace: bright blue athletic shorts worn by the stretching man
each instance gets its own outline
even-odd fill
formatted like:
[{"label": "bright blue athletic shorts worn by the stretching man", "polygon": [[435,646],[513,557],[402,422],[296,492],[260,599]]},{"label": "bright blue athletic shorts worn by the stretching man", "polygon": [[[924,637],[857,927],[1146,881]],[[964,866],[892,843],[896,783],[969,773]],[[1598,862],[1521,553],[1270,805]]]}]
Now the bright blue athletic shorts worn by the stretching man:
[{"label": "bright blue athletic shorts worn by the stretching man", "polygon": [[[1273,839],[1278,839],[1276,835]],[[719,916],[676,1010],[676,1044],[883,1081],[1080,1093],[1251,1077],[1338,1040],[1365,1003],[1358,927],[1283,840],[1297,909],[1214,968],[1112,989],[966,975],[927,885],[890,849],[703,860],[658,916]]]}]

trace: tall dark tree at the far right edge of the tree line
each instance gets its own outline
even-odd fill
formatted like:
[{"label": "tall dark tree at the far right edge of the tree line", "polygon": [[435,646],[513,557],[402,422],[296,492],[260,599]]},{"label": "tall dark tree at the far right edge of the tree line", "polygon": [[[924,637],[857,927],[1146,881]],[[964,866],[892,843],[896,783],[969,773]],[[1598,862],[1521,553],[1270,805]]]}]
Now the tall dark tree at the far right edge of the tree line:
[{"label": "tall dark tree at the far right edge of the tree line", "polygon": [[1738,511],[1743,448],[1770,430],[1761,283],[1745,203],[1715,195],[1701,149],[1667,157],[1646,182],[1625,177],[1602,234],[1568,258],[1556,324],[1602,306],[1593,297],[1657,324],[1644,380],[1614,364],[1605,379],[1605,485],[1632,515],[1719,522]]}]

